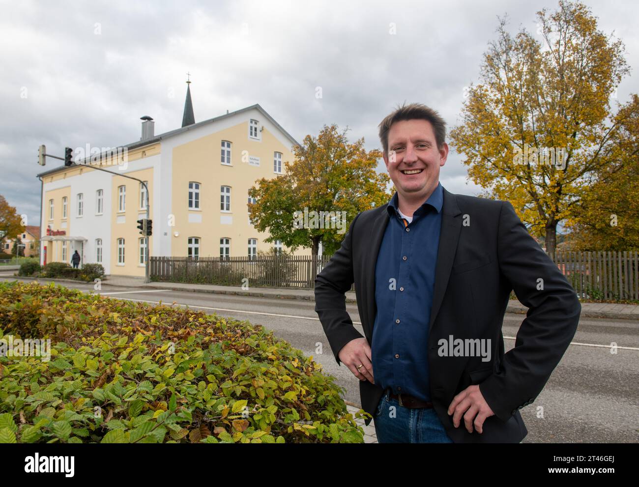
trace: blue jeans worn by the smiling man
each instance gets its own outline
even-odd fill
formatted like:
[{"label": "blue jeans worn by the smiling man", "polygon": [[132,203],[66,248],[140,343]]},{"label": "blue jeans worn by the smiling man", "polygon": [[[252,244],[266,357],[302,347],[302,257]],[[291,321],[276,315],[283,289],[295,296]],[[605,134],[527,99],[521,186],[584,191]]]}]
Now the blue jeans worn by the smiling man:
[{"label": "blue jeans worn by the smiling man", "polygon": [[391,399],[390,389],[377,405],[373,421],[380,443],[452,443],[433,408],[406,408]]}]

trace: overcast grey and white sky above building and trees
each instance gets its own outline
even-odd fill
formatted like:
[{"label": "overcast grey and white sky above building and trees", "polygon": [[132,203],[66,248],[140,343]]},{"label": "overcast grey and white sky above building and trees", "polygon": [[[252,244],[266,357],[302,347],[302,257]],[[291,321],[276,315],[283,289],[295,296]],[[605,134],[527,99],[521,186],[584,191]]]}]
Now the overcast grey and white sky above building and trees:
[{"label": "overcast grey and white sky above building and trees", "polygon": [[[626,46],[626,101],[639,91],[639,4],[584,3]],[[0,1],[0,194],[38,225],[36,174],[61,164],[38,166],[38,146],[61,156],[132,143],[143,115],[156,134],[179,128],[187,72],[196,121],[259,103],[297,141],[337,123],[370,150],[406,101],[437,109],[450,130],[497,16],[535,33],[541,8],[557,1]],[[479,192],[455,153],[440,181]]]}]

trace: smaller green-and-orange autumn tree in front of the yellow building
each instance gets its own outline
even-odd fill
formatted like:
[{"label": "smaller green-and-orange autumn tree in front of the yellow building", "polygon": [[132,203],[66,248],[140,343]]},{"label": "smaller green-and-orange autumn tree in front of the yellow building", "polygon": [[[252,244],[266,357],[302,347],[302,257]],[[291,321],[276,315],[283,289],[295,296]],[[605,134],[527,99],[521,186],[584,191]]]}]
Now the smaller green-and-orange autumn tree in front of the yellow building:
[{"label": "smaller green-and-orange autumn tree in front of the yellow building", "polygon": [[375,171],[381,151],[366,151],[363,138],[349,143],[346,132],[348,127],[340,132],[325,125],[318,137],[307,135],[293,147],[295,160],[285,163],[284,174],[262,178],[249,190],[256,198],[248,205],[250,219],[258,231],[270,233],[266,242],[281,240],[293,251],[310,248],[313,256],[321,242],[331,254],[357,213],[390,199],[388,174]]}]

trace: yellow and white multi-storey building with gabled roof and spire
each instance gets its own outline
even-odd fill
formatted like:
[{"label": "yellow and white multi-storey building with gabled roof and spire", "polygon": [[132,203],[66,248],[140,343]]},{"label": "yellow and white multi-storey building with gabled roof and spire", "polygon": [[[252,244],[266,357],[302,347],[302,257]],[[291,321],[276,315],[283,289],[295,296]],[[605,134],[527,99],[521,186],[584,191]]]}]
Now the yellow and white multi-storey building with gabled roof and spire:
[{"label": "yellow and white multi-storey building with gabled roof and spire", "polygon": [[41,263],[70,262],[77,250],[82,263],[101,263],[107,275],[144,275],[146,245],[137,220],[146,218],[146,190],[124,176],[147,184],[151,256],[286,249],[265,242],[268,234],[249,222],[249,188],[281,174],[298,144],[260,105],[194,123],[189,87],[181,128],[155,135],[153,119],[141,120],[140,141],[78,147],[72,166],[38,174]]}]

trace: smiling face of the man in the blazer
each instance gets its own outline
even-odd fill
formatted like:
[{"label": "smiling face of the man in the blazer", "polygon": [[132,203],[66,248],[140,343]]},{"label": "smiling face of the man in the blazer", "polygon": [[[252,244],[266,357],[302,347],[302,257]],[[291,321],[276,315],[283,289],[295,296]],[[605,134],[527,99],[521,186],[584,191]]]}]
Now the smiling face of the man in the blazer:
[{"label": "smiling face of the man in the blazer", "polygon": [[384,162],[399,196],[424,197],[435,190],[448,145],[437,148],[433,126],[427,120],[402,120],[389,130],[389,153]]}]

